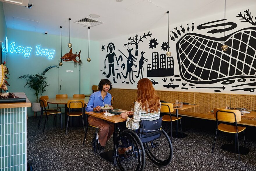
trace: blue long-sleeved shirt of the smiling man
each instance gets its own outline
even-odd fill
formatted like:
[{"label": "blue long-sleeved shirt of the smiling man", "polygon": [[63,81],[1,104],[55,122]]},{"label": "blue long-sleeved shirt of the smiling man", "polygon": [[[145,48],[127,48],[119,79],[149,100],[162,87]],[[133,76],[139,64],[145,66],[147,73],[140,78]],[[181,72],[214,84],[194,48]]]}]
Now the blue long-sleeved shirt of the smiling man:
[{"label": "blue long-sleeved shirt of the smiling man", "polygon": [[107,93],[103,100],[101,97],[101,91],[94,92],[90,96],[89,102],[86,107],[86,111],[91,112],[93,111],[93,108],[95,108],[96,106],[104,106],[103,103],[111,104],[111,98],[112,98],[111,94]]}]

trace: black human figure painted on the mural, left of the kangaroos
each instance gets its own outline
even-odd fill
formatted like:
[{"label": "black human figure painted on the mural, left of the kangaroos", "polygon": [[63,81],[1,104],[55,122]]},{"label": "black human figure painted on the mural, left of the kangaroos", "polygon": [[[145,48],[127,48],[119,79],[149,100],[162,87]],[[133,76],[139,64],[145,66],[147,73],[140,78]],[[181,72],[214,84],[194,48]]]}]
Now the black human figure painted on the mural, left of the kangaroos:
[{"label": "black human figure painted on the mural, left of the kangaroos", "polygon": [[113,75],[113,81],[114,83],[117,83],[115,81],[115,65],[114,65],[114,58],[117,62],[117,66],[119,66],[117,57],[115,55],[115,52],[113,52],[113,48],[115,50],[115,45],[114,43],[109,43],[108,47],[107,47],[107,52],[109,50],[109,54],[106,55],[105,61],[104,61],[104,69],[106,69],[106,59],[108,58],[109,60],[109,73],[106,74],[106,72],[103,72],[102,74],[106,75],[107,78],[109,78],[111,76],[111,70],[112,70],[112,75]]}]

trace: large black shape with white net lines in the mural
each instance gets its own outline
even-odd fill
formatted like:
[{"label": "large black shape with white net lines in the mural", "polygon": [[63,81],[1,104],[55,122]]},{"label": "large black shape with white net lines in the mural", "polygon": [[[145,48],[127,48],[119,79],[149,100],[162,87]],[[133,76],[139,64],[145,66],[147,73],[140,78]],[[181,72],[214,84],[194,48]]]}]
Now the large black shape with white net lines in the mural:
[{"label": "large black shape with white net lines in the mural", "polygon": [[185,34],[176,44],[181,77],[188,82],[199,84],[234,78],[255,78],[255,35],[256,28],[253,27],[226,36],[226,44],[230,48],[223,52],[220,47],[224,37]]}]

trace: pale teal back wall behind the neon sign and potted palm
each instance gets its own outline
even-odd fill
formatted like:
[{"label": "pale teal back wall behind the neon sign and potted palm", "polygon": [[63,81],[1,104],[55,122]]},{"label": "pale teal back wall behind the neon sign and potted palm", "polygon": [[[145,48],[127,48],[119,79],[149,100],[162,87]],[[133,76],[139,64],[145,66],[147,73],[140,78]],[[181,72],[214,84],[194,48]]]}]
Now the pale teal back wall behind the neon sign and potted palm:
[{"label": "pale teal back wall behind the neon sign and potted palm", "polygon": [[[24,87],[26,80],[18,79],[19,76],[25,74],[35,74],[42,73],[45,68],[52,65],[58,65],[61,57],[61,38],[57,35],[51,34],[43,34],[36,32],[28,32],[14,29],[7,29],[8,36],[8,44],[9,44],[9,52],[7,54],[7,67],[9,69],[9,84],[8,87],[9,92],[25,92],[27,97],[31,102],[35,102],[34,91],[28,87]],[[69,52],[69,48],[67,48],[67,43],[65,43],[66,37],[62,36],[62,55]],[[15,42],[15,48],[17,46],[31,47],[31,54],[29,57],[24,57],[23,54],[10,53],[10,43]],[[72,43],[72,52],[79,53],[81,50],[81,60],[83,61],[83,65],[81,66],[81,79],[80,79],[80,93],[81,94],[90,94],[92,85],[97,85],[99,83],[99,42],[90,41],[90,57],[92,61],[88,63],[86,59],[88,58],[88,40],[86,39],[78,39],[71,38]],[[48,59],[47,56],[36,55],[36,46],[40,44],[41,49],[53,49],[54,57],[52,59]],[[65,66],[65,62],[63,62],[63,66]],[[63,67],[62,66],[62,67]],[[74,68],[73,68],[74,69]],[[50,84],[47,87],[47,92],[44,95],[48,95],[49,98],[55,97],[58,94],[59,86],[58,86],[58,72],[59,68],[52,68],[49,70],[45,76],[47,77],[47,81]],[[71,69],[69,69],[71,70]],[[68,73],[65,72],[68,77]],[[79,84],[79,75],[77,77],[77,82],[71,82],[70,84]],[[28,115],[32,116],[32,111],[28,108]]]}]

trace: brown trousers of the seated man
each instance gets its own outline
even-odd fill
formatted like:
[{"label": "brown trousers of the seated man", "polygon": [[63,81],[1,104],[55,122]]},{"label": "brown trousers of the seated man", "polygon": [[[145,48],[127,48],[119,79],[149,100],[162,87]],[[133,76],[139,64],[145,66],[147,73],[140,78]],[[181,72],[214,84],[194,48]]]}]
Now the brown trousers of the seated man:
[{"label": "brown trousers of the seated man", "polygon": [[88,117],[88,123],[99,127],[99,142],[100,145],[104,147],[114,132],[114,123],[93,116]]}]

